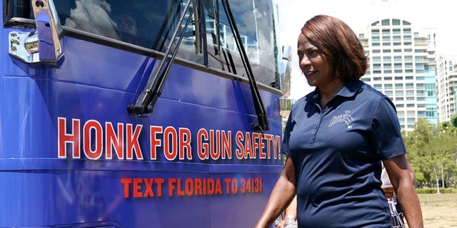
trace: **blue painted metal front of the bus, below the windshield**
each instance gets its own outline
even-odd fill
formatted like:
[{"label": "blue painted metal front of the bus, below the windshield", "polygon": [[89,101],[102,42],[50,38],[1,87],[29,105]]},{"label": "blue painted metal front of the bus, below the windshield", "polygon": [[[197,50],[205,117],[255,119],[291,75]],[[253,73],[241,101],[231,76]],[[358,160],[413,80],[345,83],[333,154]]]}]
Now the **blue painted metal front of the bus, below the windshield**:
[{"label": "blue painted metal front of the bus, below the windshield", "polygon": [[[59,66],[27,64],[4,51],[12,30],[0,28],[0,227],[253,227],[282,160],[260,159],[258,149],[255,159],[236,158],[236,133],[255,134],[251,123],[256,114],[247,83],[174,64],[154,113],[140,118],[129,115],[126,106],[134,103],[159,60],[64,37]],[[280,96],[261,90],[261,97],[271,125],[265,134],[281,137]],[[72,121],[79,120],[81,158],[72,157],[70,143],[65,144],[66,158],[59,158],[59,118],[66,121],[67,134]],[[121,124],[124,150],[127,126],[141,125],[143,160],[120,160],[116,155],[108,160],[105,147],[101,158],[89,160],[84,146],[95,151],[105,142],[96,140],[95,128],[88,128],[91,138],[84,138],[85,123],[100,123],[104,134],[106,123]],[[192,158],[167,160],[165,134],[159,133],[162,145],[156,160],[151,160],[151,126],[189,129]],[[201,129],[231,133],[233,157],[201,160],[197,156]],[[273,142],[264,141],[273,150]],[[267,151],[266,145],[262,151]],[[279,156],[278,148],[274,152]],[[133,184],[123,180],[138,181],[137,192],[147,197],[134,197]],[[187,192],[186,180],[189,186],[194,184]],[[199,180],[219,180],[221,192],[197,194]],[[242,193],[243,180],[261,180],[254,183],[261,189]],[[146,181],[152,183],[152,192],[145,191]],[[236,192],[228,182],[237,182]]]}]

